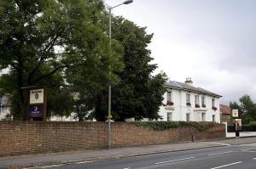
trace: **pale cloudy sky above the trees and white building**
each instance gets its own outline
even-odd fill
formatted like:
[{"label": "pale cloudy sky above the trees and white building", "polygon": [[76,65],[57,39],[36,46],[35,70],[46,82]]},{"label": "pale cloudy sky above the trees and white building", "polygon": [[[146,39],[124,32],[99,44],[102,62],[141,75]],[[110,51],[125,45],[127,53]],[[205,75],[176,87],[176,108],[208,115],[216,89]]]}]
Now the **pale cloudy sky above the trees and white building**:
[{"label": "pale cloudy sky above the trees and white building", "polygon": [[255,8],[254,0],[134,0],[112,12],[154,33],[154,74],[163,70],[177,82],[191,77],[229,104],[244,94],[256,102]]}]

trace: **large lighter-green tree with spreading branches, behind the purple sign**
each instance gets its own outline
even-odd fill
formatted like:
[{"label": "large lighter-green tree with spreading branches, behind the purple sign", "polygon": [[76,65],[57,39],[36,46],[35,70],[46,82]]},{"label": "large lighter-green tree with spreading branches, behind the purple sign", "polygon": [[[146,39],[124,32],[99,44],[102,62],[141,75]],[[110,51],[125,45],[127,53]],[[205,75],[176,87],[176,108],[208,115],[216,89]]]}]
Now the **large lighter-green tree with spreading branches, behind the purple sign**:
[{"label": "large lighter-green tree with spreading branches, behind the purple sign", "polygon": [[15,119],[26,119],[27,91],[22,87],[61,90],[67,69],[88,66],[93,71],[101,65],[100,72],[83,72],[93,80],[96,73],[106,75],[105,64],[119,67],[119,52],[108,56],[108,37],[99,25],[102,11],[101,0],[1,1],[0,70],[8,68],[9,74],[1,77],[0,86],[12,95]]}]

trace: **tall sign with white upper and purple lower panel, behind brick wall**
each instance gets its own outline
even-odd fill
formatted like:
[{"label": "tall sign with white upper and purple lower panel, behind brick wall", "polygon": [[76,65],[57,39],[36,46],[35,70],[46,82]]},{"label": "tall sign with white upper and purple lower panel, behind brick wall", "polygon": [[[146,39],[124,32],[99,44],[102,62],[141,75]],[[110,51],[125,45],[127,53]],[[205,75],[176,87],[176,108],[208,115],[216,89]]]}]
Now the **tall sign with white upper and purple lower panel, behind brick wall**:
[{"label": "tall sign with white upper and purple lower panel, behind brick wall", "polygon": [[46,88],[33,88],[29,92],[27,116],[33,121],[46,121]]}]

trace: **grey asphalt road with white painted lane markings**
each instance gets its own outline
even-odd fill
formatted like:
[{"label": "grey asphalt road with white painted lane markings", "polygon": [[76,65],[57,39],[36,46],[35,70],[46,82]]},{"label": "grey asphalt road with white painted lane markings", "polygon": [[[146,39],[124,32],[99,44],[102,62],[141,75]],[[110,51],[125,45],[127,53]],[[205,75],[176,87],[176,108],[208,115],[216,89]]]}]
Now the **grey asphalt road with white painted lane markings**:
[{"label": "grey asphalt road with white painted lane markings", "polygon": [[142,155],[108,161],[84,161],[33,168],[55,169],[255,169],[256,144],[229,145],[157,155]]}]

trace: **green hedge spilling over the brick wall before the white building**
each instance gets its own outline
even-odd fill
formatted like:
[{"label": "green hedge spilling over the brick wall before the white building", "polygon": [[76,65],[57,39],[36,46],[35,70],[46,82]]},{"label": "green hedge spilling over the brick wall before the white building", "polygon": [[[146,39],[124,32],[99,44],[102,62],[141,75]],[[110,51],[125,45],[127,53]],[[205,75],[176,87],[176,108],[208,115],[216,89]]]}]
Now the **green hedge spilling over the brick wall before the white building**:
[{"label": "green hedge spilling over the brick wall before the white building", "polygon": [[132,122],[137,127],[150,127],[156,131],[168,130],[177,127],[194,127],[199,132],[205,132],[212,127],[217,127],[219,124],[214,122],[195,122],[195,121],[136,121]]}]

